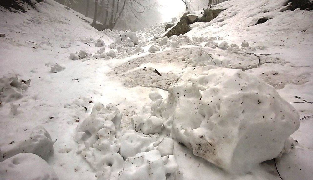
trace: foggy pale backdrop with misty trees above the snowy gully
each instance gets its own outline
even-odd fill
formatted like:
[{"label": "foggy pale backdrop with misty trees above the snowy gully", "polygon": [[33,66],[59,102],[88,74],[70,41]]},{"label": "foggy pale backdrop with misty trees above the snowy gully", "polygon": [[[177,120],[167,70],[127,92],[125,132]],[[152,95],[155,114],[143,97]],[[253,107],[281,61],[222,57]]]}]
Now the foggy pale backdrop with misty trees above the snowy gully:
[{"label": "foggy pale backdrop with misty trees above the snowy gully", "polygon": [[[87,10],[88,0],[56,0],[60,4],[64,4],[73,10],[80,12],[87,17],[94,18],[95,13],[95,0],[89,0],[89,6]],[[187,0],[188,1],[188,0]],[[191,3],[192,11],[202,10],[208,8],[208,0],[189,0]],[[213,0],[212,3],[224,2],[226,0]],[[97,24],[103,24],[105,22],[105,10],[107,2],[109,0],[98,0],[97,4]],[[119,8],[122,8],[123,0],[115,1],[115,8],[119,2]],[[112,3],[112,1],[111,1]],[[179,18],[185,13],[185,4],[182,0],[138,0],[132,2],[132,0],[126,0],[128,3],[121,17],[117,20],[113,29],[117,30],[142,30],[151,25],[158,23],[171,22],[173,17]],[[110,21],[110,7],[108,8],[108,20]],[[87,14],[88,11],[88,14]],[[117,15],[118,16],[118,15]],[[116,17],[116,16],[115,16]],[[90,22],[91,23],[91,22]],[[107,29],[109,27],[104,27]]]}]

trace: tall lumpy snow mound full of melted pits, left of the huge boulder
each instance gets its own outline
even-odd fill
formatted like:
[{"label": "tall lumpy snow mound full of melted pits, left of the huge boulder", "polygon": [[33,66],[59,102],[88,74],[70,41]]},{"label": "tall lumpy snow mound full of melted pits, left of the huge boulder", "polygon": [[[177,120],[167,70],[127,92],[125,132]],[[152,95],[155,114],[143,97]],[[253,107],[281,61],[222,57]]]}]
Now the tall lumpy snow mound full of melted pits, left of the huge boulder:
[{"label": "tall lumpy snow mound full of melted pits, left of the huge boulder", "polygon": [[[122,113],[113,105],[104,107],[96,103],[91,114],[80,121],[74,140],[79,143],[78,154],[95,169],[99,170],[97,177],[109,178],[117,176],[123,165],[123,158],[118,153],[119,144],[115,132],[120,128]],[[102,175],[101,175],[102,174]]]}]

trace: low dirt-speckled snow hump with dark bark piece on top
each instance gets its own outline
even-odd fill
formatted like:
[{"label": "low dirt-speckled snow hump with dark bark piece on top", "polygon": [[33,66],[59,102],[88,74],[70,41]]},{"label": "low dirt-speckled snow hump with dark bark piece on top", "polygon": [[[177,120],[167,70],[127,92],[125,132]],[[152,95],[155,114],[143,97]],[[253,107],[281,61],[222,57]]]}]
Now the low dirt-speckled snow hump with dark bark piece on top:
[{"label": "low dirt-speckled snow hump with dark bark piece on top", "polygon": [[179,77],[173,72],[162,73],[160,76],[152,67],[136,69],[120,76],[123,76],[124,86],[131,88],[144,86],[167,90],[169,85],[179,80]]}]

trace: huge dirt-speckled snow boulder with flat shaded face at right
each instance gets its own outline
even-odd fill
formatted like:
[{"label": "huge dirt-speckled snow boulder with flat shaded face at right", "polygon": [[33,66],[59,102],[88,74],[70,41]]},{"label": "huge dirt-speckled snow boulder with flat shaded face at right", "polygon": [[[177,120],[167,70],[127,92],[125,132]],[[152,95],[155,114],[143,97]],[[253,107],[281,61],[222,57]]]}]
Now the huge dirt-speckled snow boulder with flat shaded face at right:
[{"label": "huge dirt-speckled snow boulder with flat shaded face at right", "polygon": [[233,173],[276,158],[299,114],[276,90],[239,69],[212,69],[173,84],[161,103],[171,136]]}]

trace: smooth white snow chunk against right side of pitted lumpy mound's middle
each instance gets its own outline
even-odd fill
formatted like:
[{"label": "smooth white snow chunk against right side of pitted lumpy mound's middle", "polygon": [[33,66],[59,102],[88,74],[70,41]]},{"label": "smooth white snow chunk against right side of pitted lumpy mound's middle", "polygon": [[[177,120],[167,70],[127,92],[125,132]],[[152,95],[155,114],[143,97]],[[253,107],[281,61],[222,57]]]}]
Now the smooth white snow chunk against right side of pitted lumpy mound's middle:
[{"label": "smooth white snow chunk against right side of pitted lumpy mound's middle", "polygon": [[135,156],[137,153],[147,152],[153,149],[156,135],[144,135],[134,130],[123,131],[120,143],[120,154],[124,158]]}]

